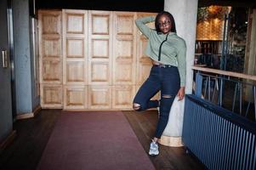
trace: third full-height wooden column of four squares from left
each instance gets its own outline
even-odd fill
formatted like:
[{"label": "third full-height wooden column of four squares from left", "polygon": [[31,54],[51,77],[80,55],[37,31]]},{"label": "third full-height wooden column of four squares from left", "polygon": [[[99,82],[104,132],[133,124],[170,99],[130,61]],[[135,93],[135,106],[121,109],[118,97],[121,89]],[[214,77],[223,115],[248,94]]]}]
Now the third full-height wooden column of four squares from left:
[{"label": "third full-height wooden column of four squares from left", "polygon": [[111,109],[112,13],[88,12],[88,108]]}]

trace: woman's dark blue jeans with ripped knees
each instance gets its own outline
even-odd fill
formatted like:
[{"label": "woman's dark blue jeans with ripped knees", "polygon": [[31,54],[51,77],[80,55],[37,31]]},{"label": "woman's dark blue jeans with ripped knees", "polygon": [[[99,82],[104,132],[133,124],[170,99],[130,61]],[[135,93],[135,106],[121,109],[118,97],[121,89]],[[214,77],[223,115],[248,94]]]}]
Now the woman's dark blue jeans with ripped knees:
[{"label": "woman's dark blue jeans with ripped knees", "polygon": [[179,71],[175,66],[161,67],[153,65],[150,76],[139,88],[134,97],[134,104],[139,104],[135,111],[145,111],[159,106],[158,100],[151,98],[160,90],[160,117],[156,126],[155,137],[160,139],[162,132],[167,126],[169,112],[173,105],[174,98],[179,91]]}]

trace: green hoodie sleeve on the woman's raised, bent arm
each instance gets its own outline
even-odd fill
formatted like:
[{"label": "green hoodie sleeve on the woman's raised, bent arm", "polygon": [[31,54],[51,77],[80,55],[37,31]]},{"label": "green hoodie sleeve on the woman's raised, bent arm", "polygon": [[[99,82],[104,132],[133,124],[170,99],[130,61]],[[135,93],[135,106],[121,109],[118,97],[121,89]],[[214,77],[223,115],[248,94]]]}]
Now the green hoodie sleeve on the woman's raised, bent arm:
[{"label": "green hoodie sleeve on the woman's raised, bent arm", "polygon": [[153,22],[155,21],[155,19],[155,16],[146,16],[135,20],[135,24],[139,28],[139,31],[141,31],[145,35],[145,37],[149,38],[152,30],[149,26],[146,26],[145,24]]}]

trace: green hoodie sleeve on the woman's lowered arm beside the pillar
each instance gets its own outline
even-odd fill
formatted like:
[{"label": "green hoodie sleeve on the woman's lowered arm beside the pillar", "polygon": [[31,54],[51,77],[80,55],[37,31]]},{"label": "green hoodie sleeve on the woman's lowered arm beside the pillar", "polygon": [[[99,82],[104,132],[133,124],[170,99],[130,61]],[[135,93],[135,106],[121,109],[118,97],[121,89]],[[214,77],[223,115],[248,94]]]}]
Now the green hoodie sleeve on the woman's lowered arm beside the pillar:
[{"label": "green hoodie sleeve on the woman's lowered arm beside the pillar", "polygon": [[179,44],[179,52],[177,54],[180,87],[185,87],[185,75],[186,75],[185,54],[186,54],[186,45],[185,45],[185,41],[182,41]]}]

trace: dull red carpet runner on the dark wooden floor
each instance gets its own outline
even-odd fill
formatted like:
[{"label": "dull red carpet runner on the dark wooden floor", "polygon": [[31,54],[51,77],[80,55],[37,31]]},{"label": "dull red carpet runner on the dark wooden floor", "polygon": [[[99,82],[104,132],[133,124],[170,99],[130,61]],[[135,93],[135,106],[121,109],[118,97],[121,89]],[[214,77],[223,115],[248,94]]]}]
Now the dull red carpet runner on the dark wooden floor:
[{"label": "dull red carpet runner on the dark wooden floor", "polygon": [[63,111],[37,169],[155,168],[121,111]]}]

